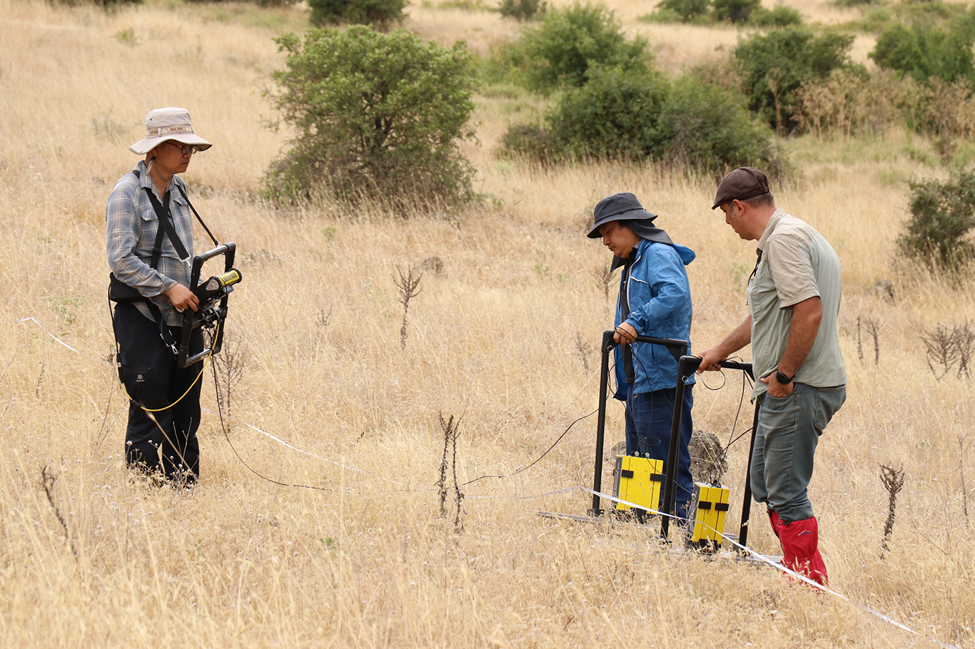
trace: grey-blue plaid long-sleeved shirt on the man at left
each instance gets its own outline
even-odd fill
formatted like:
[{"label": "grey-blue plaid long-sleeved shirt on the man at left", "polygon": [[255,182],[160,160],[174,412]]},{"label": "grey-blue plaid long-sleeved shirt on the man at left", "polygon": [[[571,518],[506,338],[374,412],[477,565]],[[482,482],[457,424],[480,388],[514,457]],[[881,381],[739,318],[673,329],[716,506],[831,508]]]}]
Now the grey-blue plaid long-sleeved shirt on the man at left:
[{"label": "grey-blue plaid long-sleeved shirt on the man at left", "polygon": [[[189,286],[190,269],[193,263],[193,214],[179,191],[186,191],[186,185],[177,175],[170,182],[170,213],[176,226],[176,235],[189,253],[189,258],[179,259],[176,248],[169,237],[163,239],[163,251],[155,269],[149,267],[152,259],[152,246],[156,242],[159,219],[152,209],[144,187],[156,195],[160,204],[163,199],[156,191],[155,184],[143,161],[139,161],[134,173],[123,175],[105,208],[106,241],[108,266],[121,282],[137,288],[143,296],[152,300],[163,314],[168,325],[182,324],[182,314],[163,293],[177,284]],[[136,302],[143,316],[153,320],[144,302]]]}]

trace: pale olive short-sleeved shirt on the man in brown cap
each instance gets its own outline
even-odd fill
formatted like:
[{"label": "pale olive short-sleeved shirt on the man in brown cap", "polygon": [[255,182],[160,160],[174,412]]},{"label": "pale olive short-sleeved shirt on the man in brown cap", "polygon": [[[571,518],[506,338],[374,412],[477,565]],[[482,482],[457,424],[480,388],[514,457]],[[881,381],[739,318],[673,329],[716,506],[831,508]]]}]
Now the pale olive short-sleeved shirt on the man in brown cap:
[{"label": "pale olive short-sleeved shirt on the man in brown cap", "polygon": [[[748,284],[755,375],[767,376],[778,367],[792,325],[790,307],[818,296],[823,319],[795,381],[820,388],[845,384],[846,367],[837,332],[842,272],[836,250],[811,225],[781,209],[768,220],[759,250],[755,278]],[[767,389],[756,381],[752,399]]]}]

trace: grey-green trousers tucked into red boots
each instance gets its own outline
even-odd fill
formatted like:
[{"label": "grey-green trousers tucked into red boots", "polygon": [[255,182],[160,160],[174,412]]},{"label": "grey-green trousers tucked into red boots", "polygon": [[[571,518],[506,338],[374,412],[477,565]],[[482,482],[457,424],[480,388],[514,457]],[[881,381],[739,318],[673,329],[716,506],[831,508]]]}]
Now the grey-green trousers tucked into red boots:
[{"label": "grey-green trousers tucked into red boots", "polygon": [[811,518],[807,487],[819,436],[846,401],[846,386],[794,383],[793,393],[759,398],[759,429],[752,453],[752,493],[786,522]]}]

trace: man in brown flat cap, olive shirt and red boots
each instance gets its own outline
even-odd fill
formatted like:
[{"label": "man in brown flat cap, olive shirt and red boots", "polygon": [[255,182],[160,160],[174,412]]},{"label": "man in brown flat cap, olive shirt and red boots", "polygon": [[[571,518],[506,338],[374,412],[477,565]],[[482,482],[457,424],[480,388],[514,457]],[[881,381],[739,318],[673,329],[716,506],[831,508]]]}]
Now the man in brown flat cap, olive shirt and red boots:
[{"label": "man in brown flat cap, olive shirt and red boots", "polygon": [[767,507],[783,565],[825,586],[807,487],[819,437],[846,400],[837,333],[839,258],[812,226],[775,207],[768,178],[757,169],[725,175],[716,208],[739,237],[759,242],[759,259],[748,283],[749,317],[701,353],[698,371],[720,369],[751,343],[761,379],[752,393],[760,404],[752,492]]}]

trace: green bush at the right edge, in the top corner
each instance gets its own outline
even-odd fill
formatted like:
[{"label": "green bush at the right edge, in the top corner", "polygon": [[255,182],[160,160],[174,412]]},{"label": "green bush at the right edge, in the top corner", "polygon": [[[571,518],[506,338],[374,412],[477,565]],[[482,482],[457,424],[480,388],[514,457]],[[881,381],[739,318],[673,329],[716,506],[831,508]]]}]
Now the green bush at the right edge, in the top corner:
[{"label": "green bush at the right edge, in the top corner", "polygon": [[896,24],[880,33],[877,47],[868,56],[879,67],[910,74],[917,81],[938,77],[951,83],[959,78],[975,79],[973,43],[975,30],[969,19],[958,21],[947,32],[920,23],[911,28]]}]

